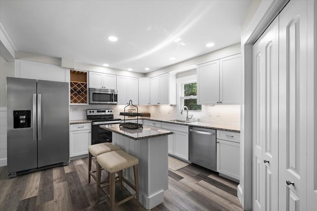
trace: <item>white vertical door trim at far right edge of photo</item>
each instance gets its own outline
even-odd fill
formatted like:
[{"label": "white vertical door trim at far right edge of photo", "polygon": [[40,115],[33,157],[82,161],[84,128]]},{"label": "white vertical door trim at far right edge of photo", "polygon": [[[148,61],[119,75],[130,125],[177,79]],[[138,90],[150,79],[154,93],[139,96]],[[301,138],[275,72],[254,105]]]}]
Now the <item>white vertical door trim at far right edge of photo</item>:
[{"label": "white vertical door trim at far right edge of photo", "polygon": [[317,211],[317,34],[314,37],[314,29],[317,29],[317,0],[308,1],[307,8],[307,45],[310,46],[307,50],[307,210]]}]

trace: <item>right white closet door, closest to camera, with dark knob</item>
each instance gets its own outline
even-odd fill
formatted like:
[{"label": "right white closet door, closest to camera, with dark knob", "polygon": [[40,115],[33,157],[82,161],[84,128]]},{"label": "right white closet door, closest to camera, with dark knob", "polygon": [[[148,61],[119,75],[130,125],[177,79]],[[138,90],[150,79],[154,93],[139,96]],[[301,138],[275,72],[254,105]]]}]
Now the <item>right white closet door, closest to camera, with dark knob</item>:
[{"label": "right white closet door, closest to camera, with dark knob", "polygon": [[279,210],[306,211],[307,1],[279,18]]}]

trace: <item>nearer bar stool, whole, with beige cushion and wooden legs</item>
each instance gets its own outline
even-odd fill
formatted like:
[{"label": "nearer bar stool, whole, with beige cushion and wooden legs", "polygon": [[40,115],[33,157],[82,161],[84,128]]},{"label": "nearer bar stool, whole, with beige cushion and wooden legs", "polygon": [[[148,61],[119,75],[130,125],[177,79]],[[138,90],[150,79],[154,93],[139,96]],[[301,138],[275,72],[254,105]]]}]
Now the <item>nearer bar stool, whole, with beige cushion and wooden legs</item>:
[{"label": "nearer bar stool, whole, with beige cushion and wooden legs", "polygon": [[[122,150],[107,152],[97,156],[97,198],[99,197],[99,192],[106,198],[106,201],[110,204],[110,211],[114,210],[115,206],[121,205],[134,197],[137,199],[137,206],[139,207],[139,177],[138,177],[138,164],[139,159],[136,157],[125,153]],[[123,178],[122,170],[133,167],[134,170],[134,181],[135,184],[131,184],[128,180]],[[106,169],[109,172],[109,183],[101,186],[101,169]],[[115,176],[117,173],[119,176]],[[118,180],[116,180],[118,178]],[[120,190],[122,190],[122,180],[129,185],[133,190],[135,190],[135,194],[127,197],[126,199],[121,200],[120,202],[115,204],[114,196],[115,196],[115,182],[120,183]],[[109,185],[110,195],[109,198],[106,192],[103,190],[107,185]]]}]

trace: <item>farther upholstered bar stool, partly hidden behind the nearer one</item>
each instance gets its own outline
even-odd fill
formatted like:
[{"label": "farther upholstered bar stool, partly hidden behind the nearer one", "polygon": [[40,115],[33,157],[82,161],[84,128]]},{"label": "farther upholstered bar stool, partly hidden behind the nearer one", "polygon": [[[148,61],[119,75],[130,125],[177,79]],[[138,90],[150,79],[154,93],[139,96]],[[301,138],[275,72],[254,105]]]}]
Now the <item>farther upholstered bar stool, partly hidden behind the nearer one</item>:
[{"label": "farther upholstered bar stool, partly hidden behind the nearer one", "polygon": [[[97,157],[106,152],[111,152],[115,150],[120,150],[119,147],[111,144],[111,143],[100,143],[100,144],[93,144],[88,147],[89,151],[89,161],[88,161],[88,183],[90,183],[90,177],[92,176],[95,181],[97,181],[97,177],[94,174],[96,171],[91,170],[91,162],[93,157]],[[96,165],[97,166],[97,165]],[[97,189],[98,190],[98,189]]]}]

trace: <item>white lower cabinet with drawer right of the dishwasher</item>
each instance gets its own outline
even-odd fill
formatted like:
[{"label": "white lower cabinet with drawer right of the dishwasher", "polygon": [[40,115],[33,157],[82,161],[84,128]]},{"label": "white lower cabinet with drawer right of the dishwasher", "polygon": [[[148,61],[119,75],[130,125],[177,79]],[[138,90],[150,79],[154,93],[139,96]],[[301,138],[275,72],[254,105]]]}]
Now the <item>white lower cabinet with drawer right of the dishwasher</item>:
[{"label": "white lower cabinet with drawer right of the dishwasher", "polygon": [[240,180],[240,133],[217,130],[216,154],[217,172]]}]

